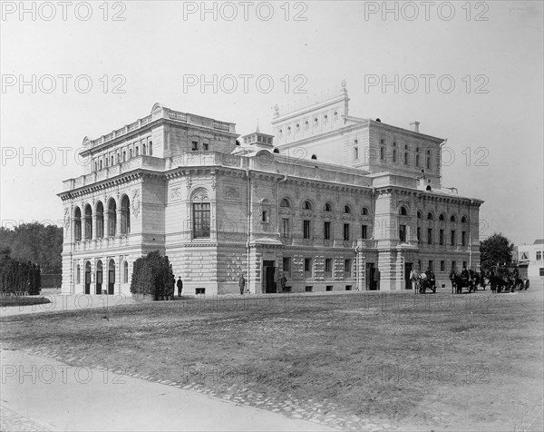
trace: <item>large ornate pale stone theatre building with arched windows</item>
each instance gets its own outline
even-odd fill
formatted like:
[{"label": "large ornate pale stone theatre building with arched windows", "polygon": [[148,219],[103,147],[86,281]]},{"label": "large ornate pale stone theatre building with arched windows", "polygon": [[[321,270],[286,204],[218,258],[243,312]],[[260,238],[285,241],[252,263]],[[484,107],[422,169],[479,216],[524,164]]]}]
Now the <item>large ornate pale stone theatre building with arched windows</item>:
[{"label": "large ornate pale stone theatre building with arched windows", "polygon": [[[273,134],[156,103],[83,140],[63,182],[63,293],[130,294],[134,260],[170,258],[184,292],[407,290],[478,268],[483,201],[442,187],[444,140],[348,113],[342,88],[282,113]],[[449,286],[449,285],[448,285]]]}]

